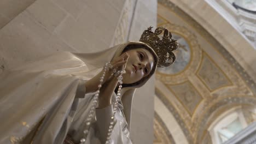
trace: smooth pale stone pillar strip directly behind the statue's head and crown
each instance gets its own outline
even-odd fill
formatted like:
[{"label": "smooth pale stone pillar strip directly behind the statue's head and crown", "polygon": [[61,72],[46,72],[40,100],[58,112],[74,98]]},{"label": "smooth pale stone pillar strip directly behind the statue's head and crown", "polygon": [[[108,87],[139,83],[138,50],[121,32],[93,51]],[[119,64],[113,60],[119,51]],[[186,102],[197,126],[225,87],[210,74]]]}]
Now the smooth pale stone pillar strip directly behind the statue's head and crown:
[{"label": "smooth pale stone pillar strip directly behind the statue's head and crown", "polygon": [[[139,40],[149,26],[156,27],[157,1],[138,0],[134,11],[129,40]],[[136,90],[133,98],[131,139],[133,143],[148,144],[154,140],[154,79]]]}]

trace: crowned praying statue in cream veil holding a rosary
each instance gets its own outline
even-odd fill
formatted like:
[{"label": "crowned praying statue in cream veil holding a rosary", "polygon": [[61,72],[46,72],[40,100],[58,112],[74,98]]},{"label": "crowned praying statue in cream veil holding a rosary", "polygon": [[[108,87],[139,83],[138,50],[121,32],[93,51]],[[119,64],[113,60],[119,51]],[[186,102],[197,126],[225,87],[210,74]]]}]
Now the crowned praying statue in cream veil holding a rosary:
[{"label": "crowned praying statue in cream veil holding a rosary", "polygon": [[[174,62],[171,51],[178,48],[167,29],[151,28],[137,42],[96,53],[60,52],[5,71],[0,76],[0,143],[132,143],[133,94],[156,67]],[[111,69],[103,67],[106,62]],[[126,71],[121,82],[119,69]],[[91,109],[95,93],[97,106]]]}]

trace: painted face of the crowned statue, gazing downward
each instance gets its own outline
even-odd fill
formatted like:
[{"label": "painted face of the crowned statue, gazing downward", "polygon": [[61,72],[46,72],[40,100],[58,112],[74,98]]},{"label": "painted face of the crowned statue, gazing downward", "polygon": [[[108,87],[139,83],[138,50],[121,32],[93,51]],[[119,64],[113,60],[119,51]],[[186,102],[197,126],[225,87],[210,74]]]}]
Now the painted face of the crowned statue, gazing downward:
[{"label": "painted face of the crowned statue, gazing downward", "polygon": [[143,48],[126,52],[129,54],[129,58],[125,67],[126,74],[123,74],[123,83],[134,83],[150,74],[154,66],[152,53]]}]

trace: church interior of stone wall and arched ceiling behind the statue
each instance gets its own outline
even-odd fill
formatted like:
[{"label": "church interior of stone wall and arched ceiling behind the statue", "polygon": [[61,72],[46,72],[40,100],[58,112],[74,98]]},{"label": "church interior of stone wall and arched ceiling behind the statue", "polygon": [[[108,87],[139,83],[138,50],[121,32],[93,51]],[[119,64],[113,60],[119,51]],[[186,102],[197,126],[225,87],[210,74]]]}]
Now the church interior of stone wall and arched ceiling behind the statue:
[{"label": "church interior of stone wall and arched ceiling behind the statue", "polygon": [[254,0],[1,0],[0,75],[60,51],[136,41],[149,26],[166,27],[179,48],[136,90],[132,142],[256,143]]}]

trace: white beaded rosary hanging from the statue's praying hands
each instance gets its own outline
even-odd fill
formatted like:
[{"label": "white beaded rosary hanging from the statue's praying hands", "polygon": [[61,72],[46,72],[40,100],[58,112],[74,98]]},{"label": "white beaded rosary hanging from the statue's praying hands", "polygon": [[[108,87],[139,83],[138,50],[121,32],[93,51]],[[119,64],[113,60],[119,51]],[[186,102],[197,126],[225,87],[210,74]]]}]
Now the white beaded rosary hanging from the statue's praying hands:
[{"label": "white beaded rosary hanging from the statue's praying hands", "polygon": [[[80,144],[84,144],[85,141],[86,141],[86,137],[89,133],[89,129],[90,129],[90,125],[91,125],[92,116],[94,116],[94,112],[95,112],[96,106],[98,104],[98,95],[100,94],[100,88],[102,86],[104,76],[106,75],[106,71],[109,70],[109,69],[113,69],[113,65],[108,62],[103,67],[103,74],[100,77],[100,84],[98,85],[98,90],[96,91],[96,94],[94,95],[94,98],[92,100],[92,106],[91,106],[91,109],[89,111],[89,116],[86,119],[86,128],[83,131],[84,132],[84,137],[82,139],[80,139]],[[112,134],[113,125],[114,125],[114,121],[115,121],[114,115],[115,115],[115,112],[116,112],[117,107],[118,107],[118,102],[120,101],[120,95],[121,95],[120,92],[121,92],[122,83],[123,83],[122,82],[122,80],[123,80],[122,74],[125,74],[125,70],[113,69],[113,74],[112,75],[118,76],[118,82],[119,82],[120,85],[118,87],[117,98],[115,99],[115,104],[114,104],[114,108],[113,108],[113,110],[114,110],[113,116],[111,117],[111,121],[110,121],[110,124],[109,124],[109,127],[108,127],[108,134],[107,134],[106,144],[110,143],[110,135]]]}]

